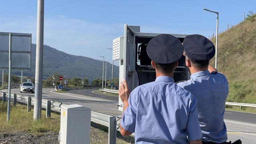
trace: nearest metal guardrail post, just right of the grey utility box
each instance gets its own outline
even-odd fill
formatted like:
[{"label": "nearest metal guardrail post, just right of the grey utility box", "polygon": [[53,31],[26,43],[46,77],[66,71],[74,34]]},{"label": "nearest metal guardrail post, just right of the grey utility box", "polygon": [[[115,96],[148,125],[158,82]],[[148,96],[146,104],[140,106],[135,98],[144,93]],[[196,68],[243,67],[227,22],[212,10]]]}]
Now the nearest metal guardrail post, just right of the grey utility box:
[{"label": "nearest metal guardrail post, just right of the grey utility box", "polygon": [[108,143],[116,144],[116,117],[109,117],[108,123]]}]

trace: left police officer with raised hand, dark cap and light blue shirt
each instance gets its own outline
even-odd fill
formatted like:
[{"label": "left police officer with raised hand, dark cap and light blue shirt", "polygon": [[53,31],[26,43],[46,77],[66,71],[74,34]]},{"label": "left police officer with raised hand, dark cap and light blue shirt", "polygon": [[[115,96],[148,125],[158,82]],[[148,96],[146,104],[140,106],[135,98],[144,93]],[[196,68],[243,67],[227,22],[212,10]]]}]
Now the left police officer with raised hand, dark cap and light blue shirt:
[{"label": "left police officer with raised hand, dark cap and light blue shirt", "polygon": [[136,87],[130,95],[126,81],[120,83],[124,109],[121,134],[134,132],[137,144],[201,144],[197,100],[173,80],[174,68],[183,54],[181,42],[172,35],[158,35],[149,41],[147,54],[156,80]]}]

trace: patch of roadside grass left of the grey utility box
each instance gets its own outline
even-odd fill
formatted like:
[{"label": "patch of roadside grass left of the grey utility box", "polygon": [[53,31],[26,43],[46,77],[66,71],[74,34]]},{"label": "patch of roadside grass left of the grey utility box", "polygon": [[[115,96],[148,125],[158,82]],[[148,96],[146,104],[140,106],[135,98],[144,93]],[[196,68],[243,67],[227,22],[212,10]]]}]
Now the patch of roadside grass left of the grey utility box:
[{"label": "patch of roadside grass left of the grey utility box", "polygon": [[42,110],[42,118],[38,121],[33,120],[33,109],[27,112],[25,105],[11,105],[10,121],[7,118],[7,102],[0,104],[0,132],[12,133],[16,131],[28,132],[33,135],[41,135],[46,131],[58,132],[60,130],[60,115],[51,114],[51,118],[45,118],[45,111]]}]

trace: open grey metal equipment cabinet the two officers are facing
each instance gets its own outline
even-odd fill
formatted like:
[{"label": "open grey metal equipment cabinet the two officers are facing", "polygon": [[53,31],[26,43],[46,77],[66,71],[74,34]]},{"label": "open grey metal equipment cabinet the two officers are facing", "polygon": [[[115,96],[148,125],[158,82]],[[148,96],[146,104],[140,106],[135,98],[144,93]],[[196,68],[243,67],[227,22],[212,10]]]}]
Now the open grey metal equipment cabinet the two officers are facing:
[{"label": "open grey metal equipment cabinet the two officers are facing", "polygon": [[[119,60],[119,83],[125,79],[129,90],[132,91],[139,85],[155,81],[156,73],[151,66],[151,60],[142,56],[142,53],[145,54],[145,43],[160,34],[141,33],[140,26],[128,26],[125,24],[124,36],[113,40],[113,60]],[[177,37],[181,42],[187,36],[184,34],[170,35]],[[119,47],[115,43],[118,43]],[[144,47],[140,46],[141,44]],[[145,61],[145,59],[147,60]],[[174,81],[189,80],[190,73],[186,69],[185,57],[183,56],[178,62],[178,67],[174,71]],[[119,105],[118,110],[123,111],[123,102],[120,98]]]}]

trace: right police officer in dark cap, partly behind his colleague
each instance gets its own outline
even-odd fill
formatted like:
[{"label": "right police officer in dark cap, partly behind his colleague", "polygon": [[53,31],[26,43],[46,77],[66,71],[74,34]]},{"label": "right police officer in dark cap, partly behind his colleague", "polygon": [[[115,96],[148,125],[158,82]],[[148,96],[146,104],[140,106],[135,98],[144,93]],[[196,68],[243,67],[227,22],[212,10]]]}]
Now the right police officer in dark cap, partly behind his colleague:
[{"label": "right police officer in dark cap, partly behind his colleague", "polygon": [[215,55],[213,43],[201,35],[188,35],[183,41],[190,80],[178,85],[197,98],[198,120],[203,144],[226,144],[225,102],[229,93],[227,78],[209,65]]}]

